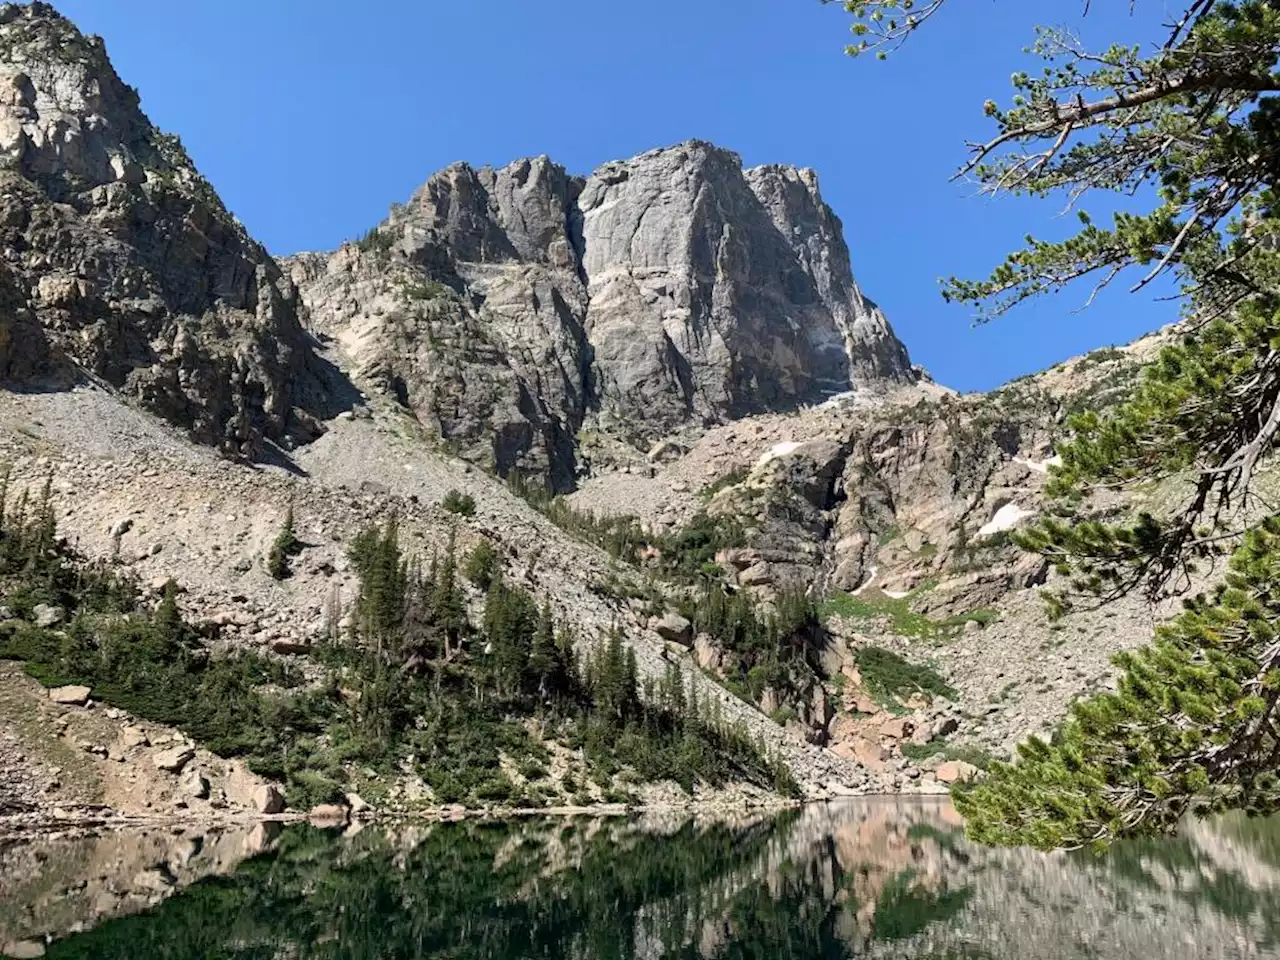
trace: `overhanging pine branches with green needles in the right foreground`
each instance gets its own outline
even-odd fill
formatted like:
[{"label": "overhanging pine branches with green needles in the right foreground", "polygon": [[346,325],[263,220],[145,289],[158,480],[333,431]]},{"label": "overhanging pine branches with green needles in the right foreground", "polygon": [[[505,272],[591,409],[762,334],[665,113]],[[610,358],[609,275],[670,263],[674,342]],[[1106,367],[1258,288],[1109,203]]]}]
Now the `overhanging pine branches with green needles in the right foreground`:
[{"label": "overhanging pine branches with green needles in the right foreground", "polygon": [[[849,4],[851,52],[886,55],[945,3]],[[1050,742],[955,791],[970,835],[992,842],[1097,846],[1171,831],[1188,812],[1280,810],[1280,517],[1254,485],[1280,435],[1280,6],[1179,8],[1155,42],[1101,51],[1068,26],[1041,28],[1029,52],[1043,69],[1014,73],[1007,109],[987,101],[993,136],[961,168],[988,192],[1065,193],[1080,227],[1028,237],[986,279],[948,280],[946,298],[986,320],[1137,269],[1134,289],[1171,273],[1194,319],[1124,402],[1069,421],[1056,502],[1015,538],[1069,584],[1052,612],[1187,593],[1231,554],[1225,585],[1116,659],[1116,694],[1076,703]],[[1093,191],[1151,206],[1100,225],[1083,209]],[[1161,485],[1176,502],[1158,516],[1091,512],[1097,493]]]}]

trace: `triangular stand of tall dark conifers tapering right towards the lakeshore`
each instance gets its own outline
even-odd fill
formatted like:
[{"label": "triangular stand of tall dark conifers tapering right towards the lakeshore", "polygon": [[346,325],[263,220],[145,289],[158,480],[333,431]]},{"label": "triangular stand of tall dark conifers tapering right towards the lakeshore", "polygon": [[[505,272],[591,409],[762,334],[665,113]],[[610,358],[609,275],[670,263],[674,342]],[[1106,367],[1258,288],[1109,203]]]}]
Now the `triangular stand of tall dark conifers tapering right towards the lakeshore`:
[{"label": "triangular stand of tall dark conifers tapering right towards the lakeshore", "polygon": [[[672,667],[641,690],[635,653],[612,634],[579,663],[548,604],[492,572],[484,622],[465,616],[452,547],[419,573],[399,552],[394,522],[352,547],[361,576],[356,634],[332,650],[343,684],[361,694],[352,739],[376,759],[417,758],[443,800],[509,800],[498,753],[539,750],[513,723],[581,748],[605,780],[630,767],[643,780],[742,778],[794,792],[786,768],[767,758],[713,704],[699,704]],[[644,694],[644,695],[643,695]],[[529,801],[529,797],[524,797]]]}]

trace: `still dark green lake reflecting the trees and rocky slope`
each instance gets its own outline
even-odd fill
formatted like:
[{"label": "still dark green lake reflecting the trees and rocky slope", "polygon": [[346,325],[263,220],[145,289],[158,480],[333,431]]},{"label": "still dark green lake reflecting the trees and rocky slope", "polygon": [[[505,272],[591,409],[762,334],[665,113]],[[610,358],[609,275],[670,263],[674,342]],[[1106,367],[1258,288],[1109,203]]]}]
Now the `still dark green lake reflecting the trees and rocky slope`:
[{"label": "still dark green lake reflecting the trees and rocky slope", "polygon": [[974,846],[945,803],[906,800],[40,838],[0,844],[0,954],[1280,957],[1280,820],[1102,858]]}]

